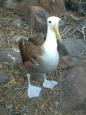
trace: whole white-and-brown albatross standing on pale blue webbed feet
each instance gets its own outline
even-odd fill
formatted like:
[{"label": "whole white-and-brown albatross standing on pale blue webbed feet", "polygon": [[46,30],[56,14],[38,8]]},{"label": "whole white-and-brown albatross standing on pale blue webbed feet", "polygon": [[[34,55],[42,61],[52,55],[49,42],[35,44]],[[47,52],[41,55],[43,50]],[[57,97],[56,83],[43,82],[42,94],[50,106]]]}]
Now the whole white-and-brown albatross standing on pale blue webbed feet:
[{"label": "whole white-and-brown albatross standing on pale blue webbed feet", "polygon": [[[54,80],[46,80],[45,74],[53,72],[59,64],[57,39],[60,42],[62,41],[59,33],[59,23],[59,17],[51,16],[47,19],[46,40],[41,45],[36,45],[25,38],[21,38],[19,40],[19,49],[22,61],[25,69],[29,73],[27,74],[29,80],[29,97],[36,97],[41,91],[40,87],[35,87],[30,84],[31,77],[45,79],[43,86],[47,88],[52,88],[57,84]],[[47,86],[45,84],[47,84]],[[38,94],[36,94],[37,92]]]}]

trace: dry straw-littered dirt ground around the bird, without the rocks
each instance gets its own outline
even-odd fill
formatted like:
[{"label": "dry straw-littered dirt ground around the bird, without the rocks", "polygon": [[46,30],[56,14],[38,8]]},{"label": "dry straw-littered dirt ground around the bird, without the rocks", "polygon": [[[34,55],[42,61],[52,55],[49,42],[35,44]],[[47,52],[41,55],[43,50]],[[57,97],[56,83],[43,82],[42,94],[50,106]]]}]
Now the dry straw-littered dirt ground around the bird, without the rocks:
[{"label": "dry straw-littered dirt ground around the bird, without the rocks", "polygon": [[[12,12],[0,9],[0,51],[18,47],[14,36],[17,34],[26,37],[32,35],[31,28],[27,25],[16,25],[14,20],[18,17]],[[3,115],[85,115],[85,110],[64,112],[59,103],[59,90],[43,89],[38,98],[30,99],[27,96],[27,78],[19,68],[0,62],[0,70],[8,73],[9,82],[0,85],[0,108]],[[58,81],[61,70],[53,73],[51,79]],[[1,110],[2,111],[2,110]]]}]

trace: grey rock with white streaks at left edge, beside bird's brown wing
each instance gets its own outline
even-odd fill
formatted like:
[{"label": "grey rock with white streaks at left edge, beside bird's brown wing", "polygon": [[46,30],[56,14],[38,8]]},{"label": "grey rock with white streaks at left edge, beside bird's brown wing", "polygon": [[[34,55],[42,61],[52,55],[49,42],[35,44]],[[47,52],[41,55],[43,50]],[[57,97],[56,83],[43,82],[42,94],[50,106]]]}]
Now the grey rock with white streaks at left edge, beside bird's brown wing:
[{"label": "grey rock with white streaks at left edge, beside bird's brown wing", "polygon": [[22,63],[19,49],[12,48],[0,52],[0,61],[7,62],[9,65]]}]

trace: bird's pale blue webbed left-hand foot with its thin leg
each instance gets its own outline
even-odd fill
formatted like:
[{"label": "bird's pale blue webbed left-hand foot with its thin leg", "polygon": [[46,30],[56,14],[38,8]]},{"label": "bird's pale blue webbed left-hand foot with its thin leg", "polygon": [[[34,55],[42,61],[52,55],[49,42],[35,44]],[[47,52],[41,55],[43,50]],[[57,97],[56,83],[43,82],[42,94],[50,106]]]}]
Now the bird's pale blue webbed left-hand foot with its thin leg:
[{"label": "bird's pale blue webbed left-hand foot with its thin leg", "polygon": [[29,98],[39,97],[41,88],[30,84],[30,74],[27,74],[28,78],[28,96]]}]

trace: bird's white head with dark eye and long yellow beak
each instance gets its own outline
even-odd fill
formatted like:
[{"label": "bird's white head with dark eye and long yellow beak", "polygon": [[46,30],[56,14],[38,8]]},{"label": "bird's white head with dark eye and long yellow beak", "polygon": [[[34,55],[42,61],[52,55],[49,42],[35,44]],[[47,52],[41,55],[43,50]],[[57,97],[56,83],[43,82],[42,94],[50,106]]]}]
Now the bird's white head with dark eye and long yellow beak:
[{"label": "bird's white head with dark eye and long yellow beak", "polygon": [[62,42],[62,38],[60,36],[60,32],[59,32],[59,23],[60,23],[60,18],[56,17],[56,16],[51,16],[47,19],[47,25],[48,27],[53,30],[56,34],[56,38]]}]

